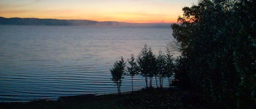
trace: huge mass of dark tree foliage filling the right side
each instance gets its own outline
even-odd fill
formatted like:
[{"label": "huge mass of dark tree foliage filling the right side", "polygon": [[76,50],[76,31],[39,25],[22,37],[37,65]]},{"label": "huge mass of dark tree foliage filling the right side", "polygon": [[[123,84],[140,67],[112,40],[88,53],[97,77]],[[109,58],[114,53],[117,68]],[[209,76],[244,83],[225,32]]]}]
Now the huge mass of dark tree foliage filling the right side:
[{"label": "huge mass of dark tree foliage filling the right side", "polygon": [[203,0],[183,8],[181,24],[172,25],[182,46],[177,79],[202,92],[216,108],[256,104],[255,5],[250,0]]}]

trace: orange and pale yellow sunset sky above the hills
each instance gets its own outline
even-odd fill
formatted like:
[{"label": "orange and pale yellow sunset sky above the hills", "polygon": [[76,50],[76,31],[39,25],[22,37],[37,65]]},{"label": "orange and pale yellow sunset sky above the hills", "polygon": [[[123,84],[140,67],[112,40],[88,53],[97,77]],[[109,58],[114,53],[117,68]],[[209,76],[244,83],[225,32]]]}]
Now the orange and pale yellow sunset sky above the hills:
[{"label": "orange and pale yellow sunset sky above the hills", "polygon": [[173,23],[198,0],[0,0],[5,18]]}]

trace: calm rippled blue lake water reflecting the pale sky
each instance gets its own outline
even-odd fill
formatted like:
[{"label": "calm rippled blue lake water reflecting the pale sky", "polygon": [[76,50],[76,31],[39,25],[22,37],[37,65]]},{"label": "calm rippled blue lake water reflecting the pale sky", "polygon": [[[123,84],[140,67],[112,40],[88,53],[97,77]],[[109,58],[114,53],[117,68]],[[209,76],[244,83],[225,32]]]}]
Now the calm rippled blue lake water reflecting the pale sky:
[{"label": "calm rippled blue lake water reflecting the pale sky", "polygon": [[[0,102],[116,93],[110,68],[173,41],[171,28],[0,26]],[[175,52],[174,52],[175,53]],[[145,87],[136,76],[135,89]],[[131,90],[129,76],[121,92]]]}]

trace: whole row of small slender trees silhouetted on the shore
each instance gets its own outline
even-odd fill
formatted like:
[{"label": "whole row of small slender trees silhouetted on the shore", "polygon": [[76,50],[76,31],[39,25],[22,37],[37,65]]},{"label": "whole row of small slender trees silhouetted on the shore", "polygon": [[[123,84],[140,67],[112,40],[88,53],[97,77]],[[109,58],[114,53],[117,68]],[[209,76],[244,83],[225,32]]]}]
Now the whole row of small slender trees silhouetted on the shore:
[{"label": "whole row of small slender trees silhouetted on the shore", "polygon": [[128,59],[128,63],[129,65],[126,68],[126,62],[121,57],[120,61],[115,62],[114,68],[110,69],[112,75],[111,80],[117,86],[118,93],[121,93],[120,87],[122,85],[123,75],[130,75],[132,77],[132,90],[135,75],[144,77],[146,88],[153,88],[153,79],[156,80],[157,87],[163,88],[164,78],[168,78],[169,86],[171,86],[171,81],[174,79],[175,64],[169,48],[166,47],[165,53],[159,51],[158,55],[154,55],[152,49],[145,44],[138,58],[135,59],[132,54],[130,59]]}]

